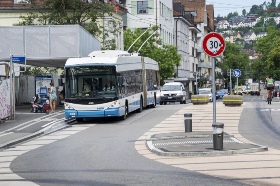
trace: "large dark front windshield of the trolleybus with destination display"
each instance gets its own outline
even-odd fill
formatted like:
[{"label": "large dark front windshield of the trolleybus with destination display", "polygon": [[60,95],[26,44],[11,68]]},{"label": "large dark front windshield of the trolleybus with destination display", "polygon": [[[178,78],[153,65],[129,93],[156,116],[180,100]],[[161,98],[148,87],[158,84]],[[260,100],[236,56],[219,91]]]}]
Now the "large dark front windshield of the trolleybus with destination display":
[{"label": "large dark front windshield of the trolleybus with destination display", "polygon": [[65,78],[65,99],[70,99],[70,102],[74,102],[73,99],[79,100],[77,102],[97,99],[99,101],[92,100],[91,104],[100,104],[118,99],[115,66],[68,67]]}]

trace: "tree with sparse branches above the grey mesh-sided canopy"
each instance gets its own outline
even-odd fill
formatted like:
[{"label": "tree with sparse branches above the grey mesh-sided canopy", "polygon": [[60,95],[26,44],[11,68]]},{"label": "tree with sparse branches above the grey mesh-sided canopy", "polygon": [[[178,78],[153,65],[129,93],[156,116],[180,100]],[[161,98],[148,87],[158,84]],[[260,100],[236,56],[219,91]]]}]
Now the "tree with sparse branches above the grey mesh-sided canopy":
[{"label": "tree with sparse branches above the grey mesh-sided canopy", "polygon": [[[27,0],[37,12],[20,16],[19,25],[30,24],[79,24],[89,33],[99,38],[103,49],[116,49],[113,40],[106,40],[110,34],[117,34],[119,22],[110,19],[113,7],[107,3],[95,1],[88,3],[81,0]],[[105,17],[108,16],[109,18]]]}]

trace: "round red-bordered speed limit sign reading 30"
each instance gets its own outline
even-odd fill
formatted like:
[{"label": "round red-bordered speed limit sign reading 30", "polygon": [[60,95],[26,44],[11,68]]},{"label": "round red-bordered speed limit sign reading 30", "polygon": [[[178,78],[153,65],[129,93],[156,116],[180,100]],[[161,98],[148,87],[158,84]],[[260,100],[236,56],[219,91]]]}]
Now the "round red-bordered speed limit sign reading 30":
[{"label": "round red-bordered speed limit sign reading 30", "polygon": [[203,38],[202,49],[211,57],[221,55],[225,48],[226,42],[224,38],[216,32],[210,32]]}]

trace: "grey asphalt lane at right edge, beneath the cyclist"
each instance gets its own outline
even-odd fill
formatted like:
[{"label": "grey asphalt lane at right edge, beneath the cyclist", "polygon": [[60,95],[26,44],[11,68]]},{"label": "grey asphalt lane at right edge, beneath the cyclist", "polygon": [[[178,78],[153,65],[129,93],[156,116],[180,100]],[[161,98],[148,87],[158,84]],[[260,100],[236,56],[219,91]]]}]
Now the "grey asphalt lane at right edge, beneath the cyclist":
[{"label": "grey asphalt lane at right edge, beneath the cyclist", "polygon": [[[246,97],[248,95],[244,100]],[[269,105],[259,98],[246,102],[239,121],[239,133],[254,143],[280,150],[280,103],[273,101]]]}]

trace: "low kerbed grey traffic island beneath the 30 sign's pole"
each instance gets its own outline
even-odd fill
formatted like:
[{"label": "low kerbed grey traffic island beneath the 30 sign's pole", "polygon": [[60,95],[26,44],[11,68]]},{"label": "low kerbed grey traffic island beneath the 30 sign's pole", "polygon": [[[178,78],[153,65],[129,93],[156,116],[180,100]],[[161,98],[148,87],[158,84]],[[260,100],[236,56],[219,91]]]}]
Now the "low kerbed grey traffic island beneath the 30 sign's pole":
[{"label": "low kerbed grey traffic island beneath the 30 sign's pole", "polygon": [[171,132],[148,136],[146,146],[159,156],[221,156],[268,151],[265,146],[245,144],[226,132],[223,142],[222,150],[214,150],[212,131]]}]

